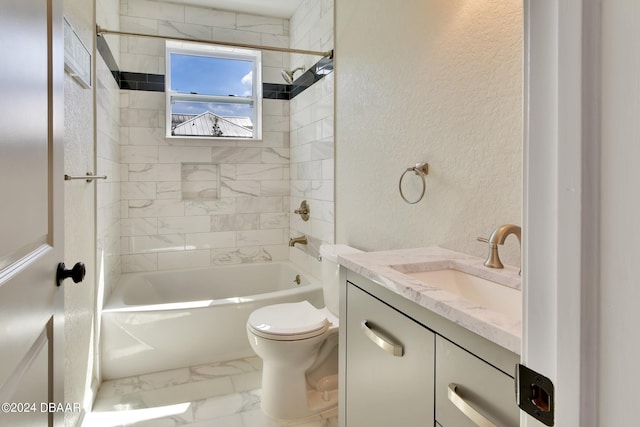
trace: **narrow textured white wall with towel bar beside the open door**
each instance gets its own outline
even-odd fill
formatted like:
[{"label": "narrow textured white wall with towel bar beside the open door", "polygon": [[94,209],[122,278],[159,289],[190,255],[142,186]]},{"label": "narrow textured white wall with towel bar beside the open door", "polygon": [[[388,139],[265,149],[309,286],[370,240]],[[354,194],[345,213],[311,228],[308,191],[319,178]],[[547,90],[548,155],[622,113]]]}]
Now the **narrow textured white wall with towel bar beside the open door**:
[{"label": "narrow textured white wall with towel bar beside the open door", "polygon": [[[83,0],[65,0],[64,14],[78,36],[93,51],[94,10]],[[65,73],[64,171],[69,175],[95,172],[93,89],[85,89]],[[92,402],[93,321],[95,306],[95,184],[67,181],[65,187],[64,262],[71,268],[83,261],[87,275],[80,284],[66,281],[65,305],[65,402],[79,402],[85,411]],[[75,425],[81,413],[65,413],[65,425]]]}]

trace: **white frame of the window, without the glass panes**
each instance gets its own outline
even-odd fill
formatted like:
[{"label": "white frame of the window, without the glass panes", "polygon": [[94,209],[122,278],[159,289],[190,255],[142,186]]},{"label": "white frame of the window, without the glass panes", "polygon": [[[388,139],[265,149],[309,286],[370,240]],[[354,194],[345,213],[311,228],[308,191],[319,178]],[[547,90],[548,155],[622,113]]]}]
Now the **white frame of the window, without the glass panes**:
[{"label": "white frame of the window, without the glass panes", "polygon": [[[251,61],[253,63],[253,94],[252,96],[216,96],[202,94],[179,93],[171,90],[171,54],[195,55],[210,58],[235,59]],[[165,67],[165,93],[166,93],[166,137],[167,138],[188,138],[188,139],[215,139],[215,140],[262,140],[262,52],[254,49],[242,49],[235,47],[210,45],[202,43],[166,41],[166,67]],[[196,102],[216,102],[231,104],[253,105],[253,137],[233,138],[225,136],[189,136],[171,134],[171,103],[176,101],[196,101]]]}]

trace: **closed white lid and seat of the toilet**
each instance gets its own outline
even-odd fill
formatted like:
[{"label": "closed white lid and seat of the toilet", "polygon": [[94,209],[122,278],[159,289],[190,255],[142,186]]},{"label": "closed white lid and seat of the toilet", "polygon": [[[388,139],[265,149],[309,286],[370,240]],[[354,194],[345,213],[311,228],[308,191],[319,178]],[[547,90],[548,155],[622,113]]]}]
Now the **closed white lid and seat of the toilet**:
[{"label": "closed white lid and seat of the toilet", "polygon": [[329,328],[326,315],[308,301],[259,308],[249,315],[247,324],[259,335],[273,336],[273,339],[310,338]]}]

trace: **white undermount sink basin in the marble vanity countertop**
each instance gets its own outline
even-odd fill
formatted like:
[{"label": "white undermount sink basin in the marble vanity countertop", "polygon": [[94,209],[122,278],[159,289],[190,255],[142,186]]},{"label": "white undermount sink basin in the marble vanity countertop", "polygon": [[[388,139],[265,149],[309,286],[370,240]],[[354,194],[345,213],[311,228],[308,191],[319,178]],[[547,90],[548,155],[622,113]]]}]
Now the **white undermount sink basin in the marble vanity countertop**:
[{"label": "white undermount sink basin in the marble vanity countertop", "polygon": [[511,319],[522,319],[522,293],[518,289],[453,269],[404,274]]}]

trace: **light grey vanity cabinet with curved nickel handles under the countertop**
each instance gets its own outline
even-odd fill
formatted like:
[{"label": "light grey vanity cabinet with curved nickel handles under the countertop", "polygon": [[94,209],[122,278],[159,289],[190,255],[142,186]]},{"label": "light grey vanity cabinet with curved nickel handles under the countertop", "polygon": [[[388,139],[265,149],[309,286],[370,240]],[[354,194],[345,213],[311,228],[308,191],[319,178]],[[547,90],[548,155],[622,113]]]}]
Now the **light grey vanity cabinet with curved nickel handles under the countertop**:
[{"label": "light grey vanity cabinet with curved nickel handles under the countertop", "polygon": [[518,355],[352,271],[342,277],[341,427],[519,425]]}]

